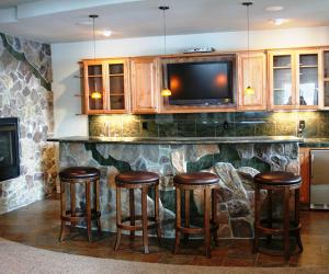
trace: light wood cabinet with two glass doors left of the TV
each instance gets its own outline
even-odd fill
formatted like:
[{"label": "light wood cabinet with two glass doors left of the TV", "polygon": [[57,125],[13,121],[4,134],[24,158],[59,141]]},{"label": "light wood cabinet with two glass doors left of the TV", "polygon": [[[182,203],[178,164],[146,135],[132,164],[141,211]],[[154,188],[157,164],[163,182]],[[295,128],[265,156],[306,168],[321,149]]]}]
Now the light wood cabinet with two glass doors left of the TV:
[{"label": "light wood cabinet with two glass doors left of the TV", "polygon": [[84,114],[129,110],[128,62],[125,59],[82,60]]}]

